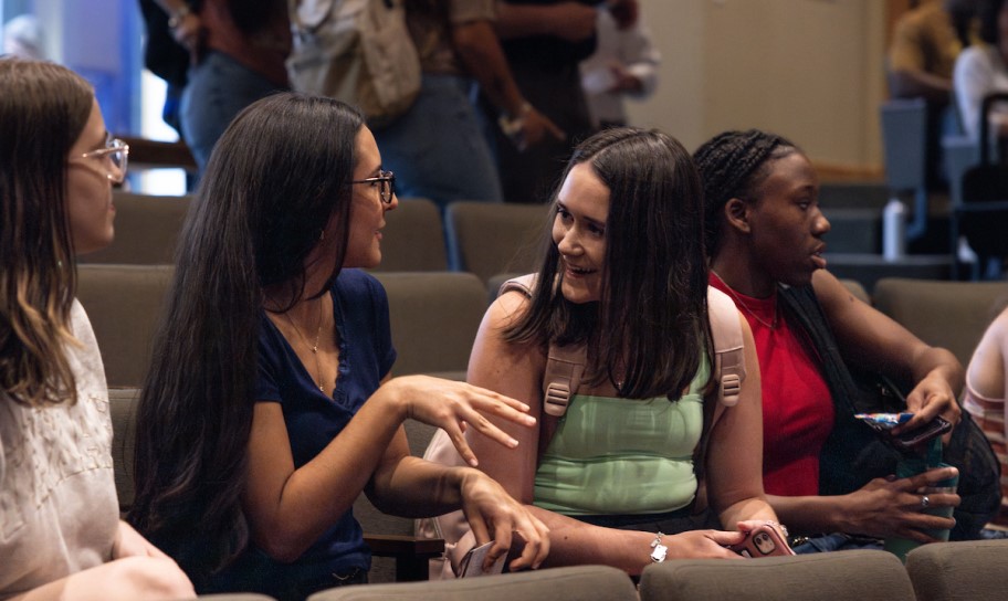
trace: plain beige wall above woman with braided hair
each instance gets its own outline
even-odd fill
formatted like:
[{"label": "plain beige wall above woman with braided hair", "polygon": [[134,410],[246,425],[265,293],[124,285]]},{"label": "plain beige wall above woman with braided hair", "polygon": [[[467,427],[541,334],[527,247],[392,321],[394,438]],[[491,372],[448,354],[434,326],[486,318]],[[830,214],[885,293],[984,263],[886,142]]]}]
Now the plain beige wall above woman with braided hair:
[{"label": "plain beige wall above woman with braided hair", "polygon": [[880,0],[640,0],[662,53],[659,87],[631,123],[687,149],[725,129],[791,138],[820,165],[881,165]]}]

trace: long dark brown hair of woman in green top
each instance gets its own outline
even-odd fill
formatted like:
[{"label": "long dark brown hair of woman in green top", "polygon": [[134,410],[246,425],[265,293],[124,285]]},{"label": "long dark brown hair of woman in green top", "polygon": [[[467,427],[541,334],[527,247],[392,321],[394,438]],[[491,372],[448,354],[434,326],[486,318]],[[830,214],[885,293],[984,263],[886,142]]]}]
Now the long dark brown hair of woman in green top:
[{"label": "long dark brown hair of woman in green top", "polygon": [[[654,129],[613,128],[578,145],[564,178],[588,162],[609,188],[600,303],[559,292],[560,254],[546,246],[529,309],[510,341],[588,345],[586,379],[623,372],[619,393],[678,399],[711,351],[706,313],[703,192],[690,154]],[[556,219],[556,192],[552,219]],[[545,333],[545,335],[544,335]]]}]

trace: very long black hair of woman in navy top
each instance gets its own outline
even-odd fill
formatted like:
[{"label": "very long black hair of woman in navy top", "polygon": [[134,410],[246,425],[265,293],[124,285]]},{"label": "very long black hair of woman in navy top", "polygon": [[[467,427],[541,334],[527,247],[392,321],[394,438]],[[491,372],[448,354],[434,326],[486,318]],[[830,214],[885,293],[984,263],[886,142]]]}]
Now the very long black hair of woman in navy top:
[{"label": "very long black hair of woman in navy top", "polygon": [[[240,495],[263,289],[286,289],[292,304],[305,293],[306,257],[333,217],[329,282],[338,275],[363,123],[329,98],[254,103],[217,143],[187,215],[137,410],[129,520],[195,582],[248,545]],[[186,545],[193,536],[204,545]]]}]

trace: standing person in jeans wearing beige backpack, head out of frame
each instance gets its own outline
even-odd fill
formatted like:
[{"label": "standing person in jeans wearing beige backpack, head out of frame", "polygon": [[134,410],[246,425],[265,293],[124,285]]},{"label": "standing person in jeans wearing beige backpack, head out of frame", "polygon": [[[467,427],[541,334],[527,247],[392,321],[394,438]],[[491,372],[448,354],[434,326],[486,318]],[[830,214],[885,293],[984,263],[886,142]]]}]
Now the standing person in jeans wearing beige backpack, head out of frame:
[{"label": "standing person in jeans wearing beige backpack, head out of frame", "polygon": [[403,198],[442,208],[455,200],[498,202],[497,166],[470,102],[473,82],[502,114],[521,116],[515,135],[524,145],[561,140],[564,133],[515,85],[493,31],[493,0],[411,0],[406,7],[422,83],[402,116],[374,129],[386,167]]}]

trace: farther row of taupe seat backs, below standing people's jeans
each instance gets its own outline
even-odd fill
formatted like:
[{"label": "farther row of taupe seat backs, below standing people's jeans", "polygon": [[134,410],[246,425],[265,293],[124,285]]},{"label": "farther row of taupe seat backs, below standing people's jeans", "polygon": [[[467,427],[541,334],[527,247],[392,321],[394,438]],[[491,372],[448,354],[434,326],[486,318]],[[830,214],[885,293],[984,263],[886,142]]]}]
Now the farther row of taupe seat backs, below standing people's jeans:
[{"label": "farther row of taupe seat backs, below standing people's jeans", "polygon": [[[116,191],[116,236],[82,263],[158,265],[175,262],[175,247],[191,197]],[[401,199],[386,214],[380,272],[465,271],[483,282],[502,272],[531,271],[546,208],[455,202],[444,219],[427,199]]]}]

